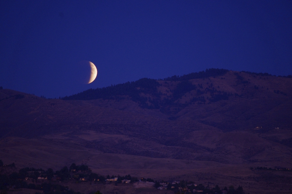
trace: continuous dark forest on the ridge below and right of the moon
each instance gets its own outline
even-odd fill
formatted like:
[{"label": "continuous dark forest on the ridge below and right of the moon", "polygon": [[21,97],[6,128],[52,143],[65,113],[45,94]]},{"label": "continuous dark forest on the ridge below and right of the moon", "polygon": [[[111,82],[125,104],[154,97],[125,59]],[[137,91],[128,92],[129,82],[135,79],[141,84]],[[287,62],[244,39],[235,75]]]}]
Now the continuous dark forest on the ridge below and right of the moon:
[{"label": "continuous dark forest on the ridge below and right of the moon", "polygon": [[[189,79],[207,78],[210,76],[215,77],[219,75],[224,75],[228,71],[229,70],[227,69],[206,69],[206,71],[190,73],[188,75],[174,75],[172,77],[165,78],[165,81],[180,81],[176,89],[173,91],[171,99],[161,99],[161,96],[163,94],[157,91],[157,86],[159,86],[159,83],[155,79],[148,78],[139,79],[135,82],[126,82],[123,84],[111,85],[104,88],[89,89],[75,95],[65,96],[61,99],[92,100],[102,98],[120,100],[124,99],[125,96],[129,96],[131,100],[133,100],[134,102],[138,102],[142,108],[161,109],[168,105],[174,105],[174,102],[177,99],[181,98],[183,95],[185,95],[186,92],[197,89],[197,86],[189,82]],[[198,85],[198,87],[201,89],[203,88],[200,84]],[[200,94],[204,93],[204,91],[197,92],[199,92]],[[150,94],[152,97],[147,98],[141,95],[141,93]],[[221,99],[226,99],[226,97],[223,96]]]}]

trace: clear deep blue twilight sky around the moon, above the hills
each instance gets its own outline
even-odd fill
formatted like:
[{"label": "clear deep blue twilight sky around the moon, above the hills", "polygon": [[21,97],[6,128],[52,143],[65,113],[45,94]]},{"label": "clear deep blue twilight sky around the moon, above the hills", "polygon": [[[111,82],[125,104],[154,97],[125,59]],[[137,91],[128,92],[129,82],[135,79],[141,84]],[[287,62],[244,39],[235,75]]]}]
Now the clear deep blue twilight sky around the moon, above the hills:
[{"label": "clear deep blue twilight sky around the moon, above the hills", "polygon": [[[292,74],[292,1],[1,1],[0,86],[47,98],[206,68]],[[79,61],[94,82],[75,82]]]}]

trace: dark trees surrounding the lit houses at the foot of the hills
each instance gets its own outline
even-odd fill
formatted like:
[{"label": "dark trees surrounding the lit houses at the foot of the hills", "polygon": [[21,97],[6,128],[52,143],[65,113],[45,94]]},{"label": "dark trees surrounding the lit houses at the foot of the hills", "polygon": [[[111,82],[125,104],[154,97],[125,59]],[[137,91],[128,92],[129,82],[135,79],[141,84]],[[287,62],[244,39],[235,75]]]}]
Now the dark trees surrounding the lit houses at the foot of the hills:
[{"label": "dark trees surrounding the lit houses at the foot of the hills", "polygon": [[[0,165],[3,166],[2,160],[0,160]],[[265,168],[265,167],[264,167]],[[258,169],[264,169],[262,167],[258,167]],[[252,169],[252,168],[251,168]],[[279,170],[279,169],[277,169]],[[288,169],[289,170],[289,169]],[[53,177],[59,177],[59,180],[66,180],[71,178],[71,175],[73,179],[79,180],[79,178],[85,178],[88,181],[99,181],[104,182],[106,179],[113,179],[117,177],[117,183],[122,183],[122,180],[131,180],[131,182],[137,182],[139,181],[136,177],[131,177],[130,175],[125,176],[109,176],[107,175],[102,176],[98,175],[96,173],[92,173],[91,170],[86,165],[76,165],[72,164],[69,168],[67,166],[64,166],[62,169],[54,172],[53,169],[49,168],[46,171],[43,169],[35,169],[35,168],[23,168],[20,169],[19,172],[13,172],[10,175],[1,175],[0,174],[0,190],[7,190],[8,186],[13,186],[15,189],[20,188],[27,188],[27,189],[37,189],[42,190],[44,194],[81,194],[80,192],[74,192],[73,190],[69,190],[68,187],[64,187],[58,184],[53,184],[52,182],[43,182],[41,184],[35,184],[33,183],[27,184],[27,182],[24,180],[26,177],[29,177],[31,179],[36,179],[38,177],[47,177],[48,180],[52,180]],[[141,178],[142,182],[154,182],[151,178]],[[161,186],[161,183],[166,183],[164,181],[157,182],[155,181],[155,187]],[[168,183],[167,189],[178,191],[180,188],[188,188],[190,190],[196,189],[196,190],[202,190],[203,193],[218,193],[222,194],[222,191],[226,190],[228,194],[244,194],[243,189],[241,186],[238,186],[237,189],[235,189],[233,186],[230,186],[229,188],[225,187],[224,189],[220,189],[218,185],[214,188],[210,188],[209,185],[207,187],[203,186],[202,184],[194,185],[194,182],[192,181],[184,181],[182,180],[179,183],[171,184],[171,182]],[[90,194],[101,194],[99,191],[92,192]]]}]

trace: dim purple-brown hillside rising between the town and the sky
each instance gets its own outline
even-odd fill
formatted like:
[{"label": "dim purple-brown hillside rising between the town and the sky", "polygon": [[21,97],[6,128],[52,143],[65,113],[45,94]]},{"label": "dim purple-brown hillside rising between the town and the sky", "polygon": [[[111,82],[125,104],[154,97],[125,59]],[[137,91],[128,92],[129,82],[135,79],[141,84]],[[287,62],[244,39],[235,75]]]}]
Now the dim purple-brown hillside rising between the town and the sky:
[{"label": "dim purple-brown hillside rising between the town and the sky", "polygon": [[19,167],[75,162],[106,174],[248,186],[242,177],[262,176],[250,166],[292,167],[291,99],[290,77],[222,69],[63,99],[2,89],[0,155]]}]

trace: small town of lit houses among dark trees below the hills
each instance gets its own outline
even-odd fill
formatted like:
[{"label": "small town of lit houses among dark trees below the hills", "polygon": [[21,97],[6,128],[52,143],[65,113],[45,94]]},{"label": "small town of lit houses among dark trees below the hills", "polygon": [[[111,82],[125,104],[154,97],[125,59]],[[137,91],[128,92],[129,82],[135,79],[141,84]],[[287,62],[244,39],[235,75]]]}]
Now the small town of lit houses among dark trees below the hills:
[{"label": "small town of lit houses among dark trees below the hills", "polygon": [[[2,167],[15,167],[15,164],[3,165],[0,160],[0,166]],[[23,168],[19,172],[12,172],[11,174],[0,174],[0,190],[1,194],[7,193],[6,191],[12,191],[13,189],[36,189],[42,190],[44,194],[82,194],[75,192],[68,186],[62,186],[63,182],[88,182],[90,185],[97,184],[114,184],[115,186],[121,186],[123,184],[133,184],[139,188],[143,187],[154,187],[157,190],[170,190],[174,193],[200,193],[200,194],[244,194],[243,188],[238,186],[225,186],[219,188],[218,185],[215,187],[204,186],[203,184],[195,183],[192,181],[185,180],[153,180],[151,178],[132,177],[130,175],[125,176],[103,176],[93,173],[91,169],[86,165],[76,165],[73,163],[69,168],[67,166],[60,170],[53,171],[49,168],[46,171],[43,169],[35,168]],[[140,186],[139,186],[140,184]],[[99,192],[100,193],[100,192]],[[36,192],[39,194],[39,192]],[[93,194],[93,193],[92,193]]]}]

